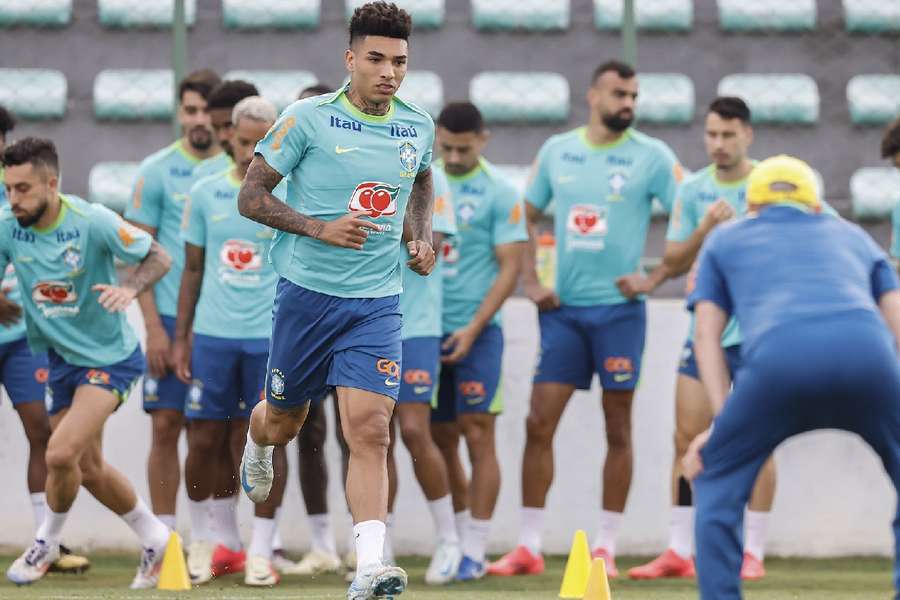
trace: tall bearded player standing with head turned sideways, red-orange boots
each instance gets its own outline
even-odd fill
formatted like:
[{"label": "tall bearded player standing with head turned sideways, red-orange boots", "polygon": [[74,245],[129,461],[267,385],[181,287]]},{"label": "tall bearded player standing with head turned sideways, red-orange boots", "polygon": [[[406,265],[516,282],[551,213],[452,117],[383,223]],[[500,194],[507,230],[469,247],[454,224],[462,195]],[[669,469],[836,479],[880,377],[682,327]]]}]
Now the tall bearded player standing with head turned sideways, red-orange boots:
[{"label": "tall bearded player standing with head turned sideways, red-orange boots", "polygon": [[[681,167],[669,147],[631,128],[638,81],[618,61],[594,72],[587,101],[590,120],[550,138],[541,148],[526,190],[531,250],[523,286],[540,311],[541,355],[531,393],[522,458],[519,546],[489,569],[496,575],[536,574],[544,504],[553,480],[553,437],[569,398],[603,388],[608,447],[603,509],[593,554],[616,577],[616,534],[631,487],[631,403],[640,377],[646,309],[644,294],[665,269],[636,273],[656,197],[670,209]],[[540,285],[534,268],[534,224],[554,201],[556,291]]]}]

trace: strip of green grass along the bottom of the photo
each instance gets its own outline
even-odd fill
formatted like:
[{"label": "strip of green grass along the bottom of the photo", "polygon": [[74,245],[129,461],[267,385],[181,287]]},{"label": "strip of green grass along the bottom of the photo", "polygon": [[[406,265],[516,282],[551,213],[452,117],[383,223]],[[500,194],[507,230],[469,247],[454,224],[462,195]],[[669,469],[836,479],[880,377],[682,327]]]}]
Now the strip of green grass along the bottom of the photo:
[{"label": "strip of green grass along the bottom of the photo", "polygon": [[[0,555],[0,565],[6,568],[13,556]],[[16,588],[5,580],[0,583],[0,598],[4,600],[70,600],[109,599],[147,600],[340,600],[346,584],[338,576],[304,579],[287,577],[274,589],[250,589],[242,585],[238,576],[215,580],[212,584],[190,592],[132,592],[128,584],[136,567],[136,556],[95,555],[91,571],[84,575],[50,575],[31,587]],[[628,568],[639,559],[622,559],[619,568]],[[434,589],[423,582],[426,561],[401,561],[409,570],[410,589],[403,598],[410,600],[538,600],[556,598],[562,578],[563,558],[548,562],[547,573],[540,577],[510,579],[488,578],[470,585],[454,585]],[[890,563],[885,559],[772,559],[767,562],[769,576],[746,586],[748,600],[885,600],[890,597]],[[682,600],[697,598],[692,581],[612,583],[615,600]]]}]

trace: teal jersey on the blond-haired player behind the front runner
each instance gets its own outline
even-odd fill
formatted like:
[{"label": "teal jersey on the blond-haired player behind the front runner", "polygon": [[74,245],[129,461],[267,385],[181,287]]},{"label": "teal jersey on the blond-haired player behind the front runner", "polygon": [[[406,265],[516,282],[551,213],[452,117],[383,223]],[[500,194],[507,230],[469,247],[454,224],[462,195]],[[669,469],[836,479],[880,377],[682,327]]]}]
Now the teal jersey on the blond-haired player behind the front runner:
[{"label": "teal jersey on the blond-haired player behind the front runner", "polygon": [[182,237],[205,250],[194,332],[232,339],[268,338],[278,275],[266,256],[274,231],[242,217],[234,171],[191,188]]}]

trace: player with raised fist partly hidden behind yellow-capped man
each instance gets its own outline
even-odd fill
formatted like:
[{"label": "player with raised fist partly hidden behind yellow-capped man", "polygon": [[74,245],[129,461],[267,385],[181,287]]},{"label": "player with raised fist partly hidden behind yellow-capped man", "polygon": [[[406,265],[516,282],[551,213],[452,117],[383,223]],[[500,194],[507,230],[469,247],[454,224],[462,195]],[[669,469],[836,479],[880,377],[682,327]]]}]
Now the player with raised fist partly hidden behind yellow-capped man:
[{"label": "player with raised fist partly hidden behind yellow-capped man", "polygon": [[[747,104],[735,97],[716,98],[706,115],[704,140],[712,164],[682,182],[669,220],[663,257],[669,277],[687,273],[703,240],[716,225],[735,215],[743,215],[746,210],[747,176],[754,164],[747,155],[753,142]],[[629,570],[628,576],[633,579],[694,576],[694,509],[691,486],[681,475],[681,459],[691,440],[709,427],[713,412],[697,371],[693,326],[692,319],[675,388],[675,460],[669,547],[653,561]],[[733,380],[741,356],[741,334],[734,319],[728,323],[722,347]],[[774,496],[775,462],[770,460],[760,472],[748,507],[741,569],[744,579],[759,579],[765,575],[765,534]]]}]

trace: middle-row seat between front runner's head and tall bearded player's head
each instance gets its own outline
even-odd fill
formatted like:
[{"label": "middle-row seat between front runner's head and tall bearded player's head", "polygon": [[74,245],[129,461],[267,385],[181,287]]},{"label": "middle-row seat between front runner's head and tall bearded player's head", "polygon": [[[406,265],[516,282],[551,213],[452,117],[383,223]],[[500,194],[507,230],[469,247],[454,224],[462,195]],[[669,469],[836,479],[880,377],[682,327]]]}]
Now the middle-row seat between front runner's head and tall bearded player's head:
[{"label": "middle-row seat between front runner's head and tall bearded player's head", "polygon": [[558,73],[479,73],[469,83],[469,99],[493,123],[555,123],[569,117],[569,82]]}]

